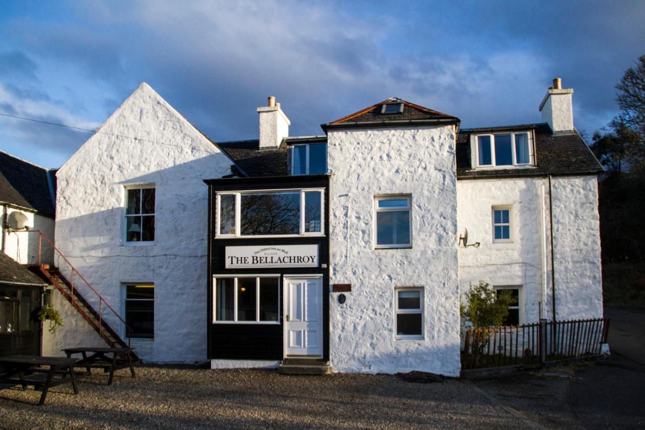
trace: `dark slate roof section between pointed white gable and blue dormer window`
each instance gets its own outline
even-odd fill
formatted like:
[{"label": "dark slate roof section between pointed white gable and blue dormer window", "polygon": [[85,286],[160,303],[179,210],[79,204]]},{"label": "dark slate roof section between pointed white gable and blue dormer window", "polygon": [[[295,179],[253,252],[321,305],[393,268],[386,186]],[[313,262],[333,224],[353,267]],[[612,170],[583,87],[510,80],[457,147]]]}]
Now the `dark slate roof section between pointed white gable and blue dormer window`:
[{"label": "dark slate roof section between pointed white gable and blue dormer window", "polygon": [[287,147],[283,141],[276,149],[260,150],[259,140],[218,142],[226,154],[248,176],[286,176]]}]

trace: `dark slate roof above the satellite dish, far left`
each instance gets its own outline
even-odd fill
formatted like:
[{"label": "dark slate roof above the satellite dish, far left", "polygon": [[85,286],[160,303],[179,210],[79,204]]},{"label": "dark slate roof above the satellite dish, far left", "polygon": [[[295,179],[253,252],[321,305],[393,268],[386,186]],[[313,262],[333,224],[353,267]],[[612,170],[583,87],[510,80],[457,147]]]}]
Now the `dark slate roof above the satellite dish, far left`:
[{"label": "dark slate roof above the satellite dish, far left", "polygon": [[43,169],[0,151],[0,201],[54,216],[55,170]]}]

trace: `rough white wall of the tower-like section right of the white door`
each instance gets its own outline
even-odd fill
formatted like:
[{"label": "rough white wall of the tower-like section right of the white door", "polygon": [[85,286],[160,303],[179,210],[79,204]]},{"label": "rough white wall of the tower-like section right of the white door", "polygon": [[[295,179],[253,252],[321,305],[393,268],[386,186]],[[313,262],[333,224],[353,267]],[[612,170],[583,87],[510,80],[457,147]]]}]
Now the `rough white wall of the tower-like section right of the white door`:
[{"label": "rough white wall of the tower-like section right of the white door", "polygon": [[[459,374],[455,128],[328,134],[330,361],[340,372]],[[412,194],[412,249],[374,249],[373,198]],[[424,340],[395,340],[395,287],[424,288]]]}]

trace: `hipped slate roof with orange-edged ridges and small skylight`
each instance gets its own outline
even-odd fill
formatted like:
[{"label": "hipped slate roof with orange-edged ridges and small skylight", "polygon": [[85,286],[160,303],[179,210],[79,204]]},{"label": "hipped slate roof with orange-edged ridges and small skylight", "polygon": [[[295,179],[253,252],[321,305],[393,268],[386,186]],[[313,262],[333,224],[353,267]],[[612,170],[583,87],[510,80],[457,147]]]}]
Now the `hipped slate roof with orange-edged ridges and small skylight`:
[{"label": "hipped slate roof with orange-edged ridges and small skylight", "polygon": [[[403,112],[395,114],[382,114],[382,106],[387,103],[403,103]],[[355,125],[359,127],[361,125],[368,125],[369,123],[390,123],[391,125],[399,124],[405,126],[406,123],[409,125],[412,123],[422,123],[424,121],[441,121],[446,123],[459,123],[461,121],[459,118],[442,112],[437,112],[436,110],[428,109],[409,101],[398,99],[396,97],[385,99],[379,101],[375,105],[372,105],[368,108],[354,112],[348,116],[344,116],[340,119],[336,119],[330,123],[327,123],[323,126],[323,129],[327,127],[339,127],[339,126],[350,126]]]}]

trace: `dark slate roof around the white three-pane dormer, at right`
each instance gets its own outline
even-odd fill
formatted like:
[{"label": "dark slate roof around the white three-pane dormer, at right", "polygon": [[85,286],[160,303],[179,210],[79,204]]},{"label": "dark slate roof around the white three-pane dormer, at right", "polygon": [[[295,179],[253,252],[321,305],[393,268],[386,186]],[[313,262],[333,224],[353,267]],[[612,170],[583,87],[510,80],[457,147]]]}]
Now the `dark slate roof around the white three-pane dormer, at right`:
[{"label": "dark slate roof around the white three-pane dormer, at right", "polygon": [[[521,169],[472,170],[470,165],[470,134],[499,132],[502,130],[535,130],[537,166]],[[459,132],[457,137],[457,178],[508,178],[518,176],[600,174],[602,166],[577,132],[552,133],[542,124],[515,125],[511,127],[471,128]]]}]

